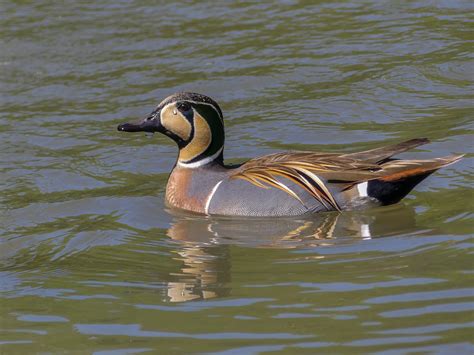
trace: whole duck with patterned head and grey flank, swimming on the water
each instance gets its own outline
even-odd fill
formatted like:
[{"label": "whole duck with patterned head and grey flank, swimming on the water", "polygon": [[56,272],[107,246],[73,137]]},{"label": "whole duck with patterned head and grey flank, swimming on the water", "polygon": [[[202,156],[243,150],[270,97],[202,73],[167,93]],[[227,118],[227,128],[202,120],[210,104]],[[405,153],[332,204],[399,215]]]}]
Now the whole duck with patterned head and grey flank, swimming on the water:
[{"label": "whole duck with patterned head and grey flank, swimming on the water", "polygon": [[391,205],[463,156],[393,158],[429,143],[415,138],[359,152],[288,151],[226,165],[222,110],[210,97],[193,92],[168,96],[144,119],[117,129],[159,132],[176,142],[179,153],[166,205],[202,215],[301,216]]}]

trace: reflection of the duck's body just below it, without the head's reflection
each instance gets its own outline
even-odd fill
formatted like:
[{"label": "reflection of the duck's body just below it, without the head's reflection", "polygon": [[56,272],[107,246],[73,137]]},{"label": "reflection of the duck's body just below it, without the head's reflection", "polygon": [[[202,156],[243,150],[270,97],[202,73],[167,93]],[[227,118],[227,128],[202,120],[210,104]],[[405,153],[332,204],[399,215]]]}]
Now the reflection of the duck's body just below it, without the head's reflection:
[{"label": "reflection of the duck's body just below it, without the head's reflection", "polygon": [[304,242],[317,240],[386,236],[415,225],[414,210],[403,205],[370,212],[320,213],[305,218],[203,218],[182,212],[173,215],[168,236],[195,245],[302,247],[306,246]]}]

